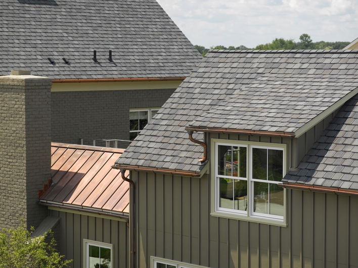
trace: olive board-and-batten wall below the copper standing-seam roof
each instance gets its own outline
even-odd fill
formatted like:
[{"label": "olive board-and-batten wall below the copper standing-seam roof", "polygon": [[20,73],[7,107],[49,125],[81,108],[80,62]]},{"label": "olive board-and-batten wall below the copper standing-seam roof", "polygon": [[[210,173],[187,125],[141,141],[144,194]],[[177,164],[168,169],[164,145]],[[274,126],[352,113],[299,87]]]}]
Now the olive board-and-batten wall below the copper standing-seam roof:
[{"label": "olive board-and-batten wall below the copper standing-seam roof", "polygon": [[[129,267],[129,229],[123,219],[101,217],[89,213],[71,213],[69,210],[52,210],[49,214],[61,218],[60,253],[74,259],[71,268],[82,268],[83,239],[113,245],[113,268]],[[75,257],[76,256],[76,257]],[[78,257],[80,256],[80,257]]]}]

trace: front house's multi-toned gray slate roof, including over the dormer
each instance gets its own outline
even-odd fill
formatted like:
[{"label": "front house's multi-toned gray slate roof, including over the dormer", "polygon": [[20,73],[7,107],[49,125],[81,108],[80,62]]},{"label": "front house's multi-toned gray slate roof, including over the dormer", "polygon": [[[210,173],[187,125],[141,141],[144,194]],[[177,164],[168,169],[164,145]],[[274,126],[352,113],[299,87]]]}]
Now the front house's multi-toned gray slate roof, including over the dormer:
[{"label": "front house's multi-toned gray slate roof, including over the dormer", "polygon": [[[348,60],[358,55],[340,53]],[[332,73],[334,64],[345,64],[337,61],[339,56],[329,51],[210,51],[117,164],[124,165],[127,152],[151,141],[157,150],[145,153],[152,160],[147,167],[163,167],[168,157],[180,157],[172,158],[176,169],[200,171],[202,147],[189,141],[186,126],[294,132],[358,87],[358,72]],[[327,59],[330,63],[324,63]],[[323,185],[326,180],[354,180],[348,175],[358,167],[358,143],[351,142],[358,133],[357,102],[354,97],[342,106],[314,151],[303,157],[298,167],[305,171],[289,171],[284,181]],[[168,125],[173,128],[159,130]],[[202,133],[195,139],[202,140]]]}]

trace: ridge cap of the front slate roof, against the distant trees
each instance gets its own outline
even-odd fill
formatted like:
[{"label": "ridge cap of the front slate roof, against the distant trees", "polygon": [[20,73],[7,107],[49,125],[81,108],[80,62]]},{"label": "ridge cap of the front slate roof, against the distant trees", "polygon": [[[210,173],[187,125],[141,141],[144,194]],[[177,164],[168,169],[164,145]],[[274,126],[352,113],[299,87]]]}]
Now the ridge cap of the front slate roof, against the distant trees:
[{"label": "ridge cap of the front slate roof, against the distant trees", "polygon": [[208,53],[305,53],[305,54],[357,54],[358,50],[208,50]]}]

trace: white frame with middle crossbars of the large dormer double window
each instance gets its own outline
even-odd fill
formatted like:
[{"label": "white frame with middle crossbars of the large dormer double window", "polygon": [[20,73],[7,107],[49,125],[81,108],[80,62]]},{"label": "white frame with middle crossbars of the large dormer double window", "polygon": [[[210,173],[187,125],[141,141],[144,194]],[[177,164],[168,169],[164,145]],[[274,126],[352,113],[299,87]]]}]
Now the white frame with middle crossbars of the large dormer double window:
[{"label": "white frame with middle crossbars of the large dormer double window", "polygon": [[[240,180],[247,181],[247,209],[244,210],[234,210],[234,209],[226,209],[219,207],[219,180],[217,177],[220,175],[217,171],[217,163],[218,163],[218,146],[235,146],[235,147],[246,147],[246,178],[239,177],[230,177],[223,176],[227,178],[235,178]],[[264,224],[277,225],[277,226],[287,226],[287,190],[283,189],[284,194],[284,213],[283,216],[277,216],[273,214],[264,214],[253,211],[254,206],[254,188],[253,182],[260,182],[258,179],[252,178],[252,148],[261,148],[261,149],[273,149],[273,150],[282,150],[283,151],[283,175],[286,174],[287,170],[287,145],[286,144],[276,144],[276,143],[261,143],[261,142],[247,142],[247,141],[235,141],[235,140],[222,140],[222,139],[212,139],[211,140],[211,215],[217,217],[225,217],[225,218],[233,218],[245,221],[253,221],[260,222]],[[265,181],[265,183],[274,183],[277,184],[276,181]]]}]

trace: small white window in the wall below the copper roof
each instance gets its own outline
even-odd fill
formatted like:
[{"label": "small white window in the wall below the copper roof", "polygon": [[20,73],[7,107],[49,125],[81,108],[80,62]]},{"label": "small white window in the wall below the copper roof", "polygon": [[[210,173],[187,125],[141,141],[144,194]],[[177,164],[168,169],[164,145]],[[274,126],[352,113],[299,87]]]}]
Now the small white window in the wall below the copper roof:
[{"label": "small white window in the wall below the copper roof", "polygon": [[112,244],[83,239],[85,268],[112,268]]}]

